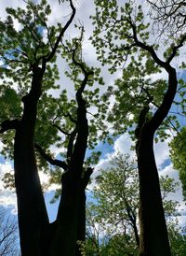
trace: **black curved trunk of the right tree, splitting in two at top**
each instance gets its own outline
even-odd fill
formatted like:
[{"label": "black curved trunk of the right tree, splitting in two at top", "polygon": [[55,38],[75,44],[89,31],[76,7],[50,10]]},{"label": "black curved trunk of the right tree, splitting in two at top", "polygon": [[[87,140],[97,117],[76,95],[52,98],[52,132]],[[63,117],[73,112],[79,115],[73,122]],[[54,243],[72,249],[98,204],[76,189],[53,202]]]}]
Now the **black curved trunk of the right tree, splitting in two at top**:
[{"label": "black curved trunk of the right tree, splitting in two at top", "polygon": [[[176,47],[166,62],[161,61],[152,47],[141,43],[138,46],[151,53],[156,64],[168,74],[167,90],[162,104],[154,112],[150,121],[146,121],[149,107],[140,112],[139,125],[135,131],[137,138],[136,152],[140,176],[140,256],[169,256],[170,247],[166,230],[166,220],[160,192],[158,171],[153,154],[153,136],[163,123],[172,106],[177,92],[177,74],[170,61],[177,53]],[[181,47],[182,43],[179,44]]]}]

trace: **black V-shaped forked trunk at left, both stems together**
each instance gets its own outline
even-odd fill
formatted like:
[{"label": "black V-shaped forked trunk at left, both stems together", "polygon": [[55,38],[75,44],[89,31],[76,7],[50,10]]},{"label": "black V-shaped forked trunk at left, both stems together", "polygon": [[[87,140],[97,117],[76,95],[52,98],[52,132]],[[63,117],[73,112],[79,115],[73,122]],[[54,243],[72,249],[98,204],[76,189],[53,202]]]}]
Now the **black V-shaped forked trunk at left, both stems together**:
[{"label": "black V-shaped forked trunk at left, both stems together", "polygon": [[[48,221],[34,155],[34,126],[46,61],[43,62],[42,68],[37,64],[33,66],[31,91],[22,98],[24,107],[21,120],[14,121],[16,125],[11,121],[4,122],[2,129],[2,131],[16,129],[14,165],[22,256],[77,256],[79,255],[77,240],[85,241],[85,190],[91,172],[88,170],[83,177],[88,124],[86,101],[82,93],[92,72],[86,72],[83,64],[73,61],[82,68],[85,78],[76,92],[77,135],[76,138],[73,136],[74,146],[72,144],[73,147],[70,147],[69,163],[66,164],[68,167],[61,178],[59,212],[53,224],[49,224]],[[11,124],[9,128],[7,124]]]}]

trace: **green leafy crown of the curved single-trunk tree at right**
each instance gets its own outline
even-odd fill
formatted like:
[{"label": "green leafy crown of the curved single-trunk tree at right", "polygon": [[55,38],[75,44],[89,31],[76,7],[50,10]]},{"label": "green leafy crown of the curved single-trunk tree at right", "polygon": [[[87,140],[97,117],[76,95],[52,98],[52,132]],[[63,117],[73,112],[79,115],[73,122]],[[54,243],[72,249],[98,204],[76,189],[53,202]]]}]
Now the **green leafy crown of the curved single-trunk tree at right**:
[{"label": "green leafy crown of the curved single-trunk tree at right", "polygon": [[[164,2],[166,6],[165,1],[159,2]],[[91,41],[96,47],[98,59],[103,65],[109,64],[111,73],[118,72],[118,69],[122,73],[115,80],[113,88],[110,87],[103,95],[103,101],[114,95],[114,105],[111,111],[107,111],[107,121],[114,123],[114,135],[122,134],[128,127],[133,134],[140,111],[144,107],[150,107],[146,119],[149,121],[161,106],[167,90],[167,81],[161,78],[164,69],[161,62],[169,62],[173,56],[179,55],[179,48],[183,46],[185,37],[179,35],[171,42],[167,41],[164,46],[164,60],[161,57],[156,62],[155,58],[162,51],[161,44],[156,44],[154,35],[150,33],[151,20],[146,19],[143,6],[134,1],[123,4],[116,0],[95,1],[95,5],[96,15],[91,17],[95,27]],[[155,78],[158,73],[160,78]],[[184,93],[183,83],[179,79],[178,92]],[[179,96],[183,99],[181,93]],[[179,105],[176,101],[175,104]],[[155,139],[164,140],[168,136],[167,130],[178,130],[179,127],[177,113],[169,113]]]}]

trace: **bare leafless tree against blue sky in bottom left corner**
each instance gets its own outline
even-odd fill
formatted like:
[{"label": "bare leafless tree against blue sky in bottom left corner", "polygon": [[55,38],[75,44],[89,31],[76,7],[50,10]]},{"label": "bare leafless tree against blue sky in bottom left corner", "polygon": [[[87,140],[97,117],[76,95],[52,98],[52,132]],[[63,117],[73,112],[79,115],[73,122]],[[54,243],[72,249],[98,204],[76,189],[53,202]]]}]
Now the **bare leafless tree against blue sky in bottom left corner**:
[{"label": "bare leafless tree against blue sky in bottom left corner", "polygon": [[15,218],[8,216],[6,209],[0,209],[0,255],[20,255],[18,225]]}]

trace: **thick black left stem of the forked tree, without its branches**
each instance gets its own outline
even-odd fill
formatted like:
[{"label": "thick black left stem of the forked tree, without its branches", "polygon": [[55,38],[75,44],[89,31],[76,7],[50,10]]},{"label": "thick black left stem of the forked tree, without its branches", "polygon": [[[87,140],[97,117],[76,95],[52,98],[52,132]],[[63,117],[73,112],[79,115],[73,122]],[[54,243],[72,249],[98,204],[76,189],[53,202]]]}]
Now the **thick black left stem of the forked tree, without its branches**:
[{"label": "thick black left stem of the forked tree, without its branches", "polygon": [[41,94],[42,78],[42,69],[34,67],[32,89],[22,99],[24,104],[23,115],[15,135],[15,185],[18,198],[22,256],[47,255],[49,222],[33,147],[34,125],[37,102]]}]

